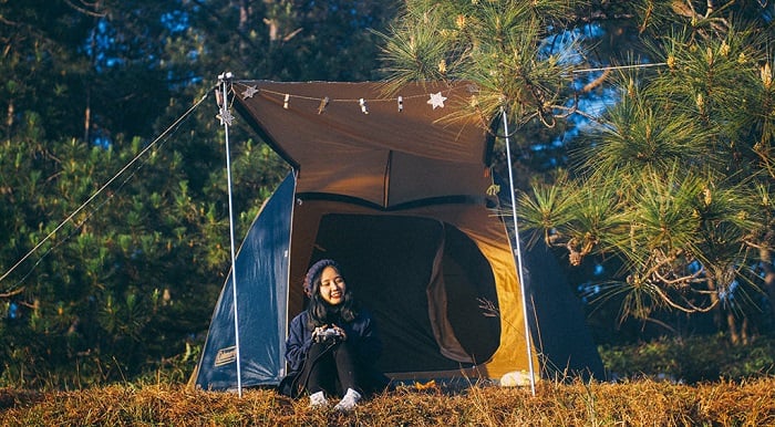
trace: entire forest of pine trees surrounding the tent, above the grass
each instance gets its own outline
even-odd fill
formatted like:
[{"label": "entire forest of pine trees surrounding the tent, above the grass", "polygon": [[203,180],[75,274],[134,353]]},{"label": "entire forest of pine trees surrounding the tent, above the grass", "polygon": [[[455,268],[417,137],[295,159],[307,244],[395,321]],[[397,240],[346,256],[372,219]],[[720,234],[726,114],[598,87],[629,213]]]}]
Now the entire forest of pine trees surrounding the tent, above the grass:
[{"label": "entire forest of pine trees surrounding the tent, above the grass", "polygon": [[[0,1],[0,385],[187,379],[230,261],[213,96],[225,71],[475,81],[477,111],[503,107],[518,128],[525,231],[557,249],[608,368],[772,374],[773,13],[756,0]],[[239,118],[230,138],[241,237],[288,168]]]}]

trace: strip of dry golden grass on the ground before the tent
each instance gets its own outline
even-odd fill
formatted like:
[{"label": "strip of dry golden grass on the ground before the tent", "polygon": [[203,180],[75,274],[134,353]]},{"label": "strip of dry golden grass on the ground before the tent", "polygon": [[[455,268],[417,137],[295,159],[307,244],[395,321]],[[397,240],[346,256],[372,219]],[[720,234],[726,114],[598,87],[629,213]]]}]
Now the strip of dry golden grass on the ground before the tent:
[{"label": "strip of dry golden grass on the ground before the tent", "polygon": [[538,384],[459,393],[401,387],[352,414],[312,410],[270,389],[235,394],[183,385],[79,392],[0,389],[2,426],[775,426],[775,378],[696,386]]}]

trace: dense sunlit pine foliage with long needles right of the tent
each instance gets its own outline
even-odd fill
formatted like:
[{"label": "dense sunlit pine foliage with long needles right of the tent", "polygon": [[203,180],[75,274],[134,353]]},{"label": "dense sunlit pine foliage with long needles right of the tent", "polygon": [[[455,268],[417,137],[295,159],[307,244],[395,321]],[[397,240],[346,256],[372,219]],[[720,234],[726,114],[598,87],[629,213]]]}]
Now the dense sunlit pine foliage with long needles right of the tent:
[{"label": "dense sunlit pine foliage with long needles right of the tent", "polygon": [[[761,42],[768,32],[755,19],[714,19],[702,29],[681,28],[679,20],[669,35],[647,39],[663,67],[614,80],[619,102],[577,142],[574,187],[613,186],[608,201],[598,191],[579,191],[561,216],[540,211],[557,219],[541,227],[556,230],[552,243],[568,247],[575,263],[589,256],[621,259],[622,280],[608,289],[627,294],[623,316],[648,319],[670,309],[732,310],[746,317],[760,310],[754,295],[762,287],[775,285],[748,272],[760,260],[768,262],[773,248],[771,210],[761,205],[772,197],[762,196],[762,185],[773,178],[771,154],[758,148],[772,139],[764,131],[771,118],[761,114],[771,108],[768,101],[751,104],[772,93]],[[616,228],[585,220],[598,206],[614,207],[609,218],[619,220]],[[539,215],[530,204],[523,210],[527,218]],[[737,341],[740,326],[730,322],[719,326]]]}]

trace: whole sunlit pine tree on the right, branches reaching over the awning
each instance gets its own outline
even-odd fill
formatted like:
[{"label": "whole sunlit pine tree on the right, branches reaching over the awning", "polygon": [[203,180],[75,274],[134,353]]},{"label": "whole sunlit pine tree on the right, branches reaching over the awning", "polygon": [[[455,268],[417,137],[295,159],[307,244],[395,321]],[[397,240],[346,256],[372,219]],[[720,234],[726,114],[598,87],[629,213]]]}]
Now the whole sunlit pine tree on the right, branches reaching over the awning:
[{"label": "whole sunlit pine tree on the right, branches reaching over the awning", "polygon": [[745,342],[775,315],[757,315],[775,287],[772,19],[762,2],[410,0],[384,53],[396,85],[472,82],[464,114],[505,112],[517,153],[572,142],[518,209],[572,265],[620,268],[592,298],[622,319],[713,312]]}]

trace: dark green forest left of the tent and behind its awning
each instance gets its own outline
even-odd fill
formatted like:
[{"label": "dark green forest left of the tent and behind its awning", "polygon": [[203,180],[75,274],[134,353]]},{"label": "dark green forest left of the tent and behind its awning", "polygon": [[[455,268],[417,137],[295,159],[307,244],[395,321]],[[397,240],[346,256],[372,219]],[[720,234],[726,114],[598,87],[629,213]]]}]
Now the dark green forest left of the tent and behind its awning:
[{"label": "dark green forest left of the tent and behind its awning", "polygon": [[[391,2],[33,0],[0,15],[0,385],[185,381],[229,269],[205,96],[224,70],[373,79],[370,28]],[[239,239],[288,167],[240,118],[230,137]]]}]

